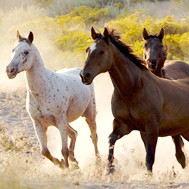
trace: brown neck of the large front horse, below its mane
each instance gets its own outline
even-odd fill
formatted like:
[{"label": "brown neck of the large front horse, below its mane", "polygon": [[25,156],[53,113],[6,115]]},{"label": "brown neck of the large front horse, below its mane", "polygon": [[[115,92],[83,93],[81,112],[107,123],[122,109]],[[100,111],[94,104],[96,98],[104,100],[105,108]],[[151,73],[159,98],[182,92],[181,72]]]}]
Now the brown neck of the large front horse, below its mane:
[{"label": "brown neck of the large front horse, below its mane", "polygon": [[130,96],[138,83],[141,70],[116,47],[113,47],[112,52],[113,64],[109,70],[109,74],[114,88],[121,96]]}]

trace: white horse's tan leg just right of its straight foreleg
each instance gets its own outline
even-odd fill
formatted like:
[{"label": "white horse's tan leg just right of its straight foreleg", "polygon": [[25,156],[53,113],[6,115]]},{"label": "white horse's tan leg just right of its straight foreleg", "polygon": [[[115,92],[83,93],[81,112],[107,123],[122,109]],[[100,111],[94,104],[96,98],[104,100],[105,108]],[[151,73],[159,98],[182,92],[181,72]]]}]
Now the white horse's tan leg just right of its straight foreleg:
[{"label": "white horse's tan leg just right of its straight foreleg", "polygon": [[68,124],[68,136],[70,137],[70,146],[69,146],[69,159],[76,163],[78,165],[77,160],[75,159],[74,156],[74,149],[75,149],[75,142],[76,142],[76,137],[77,137],[77,131],[74,130],[69,124]]}]

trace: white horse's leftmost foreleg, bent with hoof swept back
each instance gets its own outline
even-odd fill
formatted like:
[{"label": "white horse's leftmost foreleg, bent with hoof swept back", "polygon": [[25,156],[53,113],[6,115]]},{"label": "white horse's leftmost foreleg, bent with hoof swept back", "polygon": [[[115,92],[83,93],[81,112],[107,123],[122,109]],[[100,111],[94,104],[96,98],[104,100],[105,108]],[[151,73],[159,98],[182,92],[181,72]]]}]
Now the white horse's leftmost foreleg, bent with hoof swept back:
[{"label": "white horse's leftmost foreleg, bent with hoof swept back", "polygon": [[47,148],[47,127],[43,127],[39,121],[33,121],[34,129],[40,144],[41,153],[50,161],[59,167],[62,167],[62,163],[57,158],[53,157]]}]

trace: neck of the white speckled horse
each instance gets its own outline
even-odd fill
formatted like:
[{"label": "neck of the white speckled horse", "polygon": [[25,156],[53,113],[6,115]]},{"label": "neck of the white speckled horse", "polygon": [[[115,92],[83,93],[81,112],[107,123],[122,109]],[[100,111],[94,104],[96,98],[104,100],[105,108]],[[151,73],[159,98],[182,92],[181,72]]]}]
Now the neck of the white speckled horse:
[{"label": "neck of the white speckled horse", "polygon": [[33,58],[32,66],[25,72],[27,89],[33,93],[37,92],[38,90],[43,90],[42,88],[45,88],[47,86],[46,81],[48,75],[48,70],[43,64],[43,60],[40,56],[39,51],[35,46],[34,48],[35,55]]}]

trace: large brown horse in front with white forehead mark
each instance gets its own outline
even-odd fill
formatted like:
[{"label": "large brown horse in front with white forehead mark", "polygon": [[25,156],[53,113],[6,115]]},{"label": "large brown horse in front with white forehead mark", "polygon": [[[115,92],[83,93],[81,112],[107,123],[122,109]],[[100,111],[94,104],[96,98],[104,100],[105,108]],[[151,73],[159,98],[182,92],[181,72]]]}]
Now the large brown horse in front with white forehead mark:
[{"label": "large brown horse in front with white forehead mark", "polygon": [[138,130],[145,134],[146,166],[152,172],[159,136],[189,140],[189,81],[157,77],[107,28],[103,35],[92,28],[91,36],[94,42],[80,73],[82,81],[88,85],[98,74],[109,72],[114,86],[108,171],[114,171],[115,142]]}]

